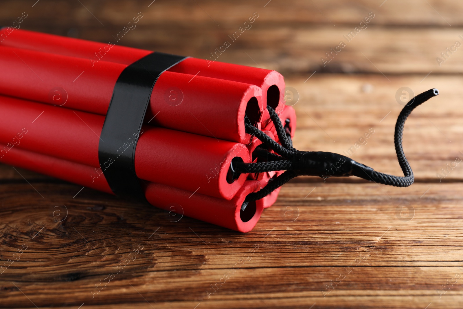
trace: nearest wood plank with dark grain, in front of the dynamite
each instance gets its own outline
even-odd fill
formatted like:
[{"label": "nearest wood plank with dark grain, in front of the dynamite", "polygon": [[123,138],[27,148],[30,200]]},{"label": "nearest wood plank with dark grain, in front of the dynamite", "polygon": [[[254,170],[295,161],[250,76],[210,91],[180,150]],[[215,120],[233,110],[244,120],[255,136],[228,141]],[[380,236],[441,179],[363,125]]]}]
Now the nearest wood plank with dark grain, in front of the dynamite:
[{"label": "nearest wood plank with dark grain, in front of the dynamite", "polygon": [[[2,260],[27,246],[0,276],[5,307],[31,307],[25,296],[38,307],[95,308],[148,306],[143,298],[156,308],[260,308],[263,302],[332,308],[349,299],[355,303],[347,308],[405,308],[405,301],[407,308],[431,302],[458,308],[461,302],[461,284],[439,295],[462,272],[460,184],[435,184],[420,198],[428,184],[317,183],[304,198],[312,185],[291,183],[247,234],[186,217],[173,223],[160,210],[90,189],[73,199],[75,185],[32,185],[44,199],[27,183],[0,186]],[[414,209],[410,221],[396,213],[407,202]],[[68,216],[56,222],[61,218],[53,211],[64,212],[62,205]],[[285,216],[287,207],[299,213],[296,220]],[[143,249],[135,254],[138,244]],[[108,273],[114,278],[95,294]],[[211,284],[225,273],[230,278],[214,292]],[[330,292],[326,284],[340,274],[345,278]]]}]

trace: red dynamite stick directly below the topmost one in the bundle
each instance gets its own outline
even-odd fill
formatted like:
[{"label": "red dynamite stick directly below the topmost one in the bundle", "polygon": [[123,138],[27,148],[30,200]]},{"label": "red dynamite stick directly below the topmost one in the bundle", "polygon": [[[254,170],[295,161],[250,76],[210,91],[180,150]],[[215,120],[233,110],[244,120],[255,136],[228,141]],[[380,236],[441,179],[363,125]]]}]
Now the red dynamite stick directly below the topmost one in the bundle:
[{"label": "red dynamite stick directly below the topmost one in the bundle", "polygon": [[[106,115],[126,65],[0,47],[0,93]],[[246,142],[244,115],[257,122],[261,89],[241,82],[164,72],[153,89],[145,121],[217,139]]]}]

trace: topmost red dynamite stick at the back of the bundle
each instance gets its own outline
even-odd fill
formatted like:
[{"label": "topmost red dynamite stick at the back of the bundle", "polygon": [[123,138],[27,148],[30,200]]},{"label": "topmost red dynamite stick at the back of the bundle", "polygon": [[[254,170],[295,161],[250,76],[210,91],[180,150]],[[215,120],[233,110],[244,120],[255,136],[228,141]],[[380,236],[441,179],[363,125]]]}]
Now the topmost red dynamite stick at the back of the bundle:
[{"label": "topmost red dynamite stick at the back of the bundle", "polygon": [[[1,29],[2,32],[5,29]],[[97,43],[26,30],[8,33],[8,39],[0,45],[81,57],[89,59],[92,64],[107,61],[129,65],[151,52],[115,45],[112,42]],[[264,107],[268,104],[279,113],[284,106],[285,83],[283,76],[276,71],[193,57],[175,65],[170,71],[253,84],[263,90]]]}]

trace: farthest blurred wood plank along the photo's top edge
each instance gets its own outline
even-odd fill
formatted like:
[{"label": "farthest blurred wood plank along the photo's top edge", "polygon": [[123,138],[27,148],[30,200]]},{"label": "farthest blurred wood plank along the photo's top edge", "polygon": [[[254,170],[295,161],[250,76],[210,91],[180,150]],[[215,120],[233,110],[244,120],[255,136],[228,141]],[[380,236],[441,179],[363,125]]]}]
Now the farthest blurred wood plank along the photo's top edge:
[{"label": "farthest blurred wood plank along the photo's top edge", "polygon": [[[463,4],[452,0],[288,0],[217,2],[213,0],[175,2],[151,1],[59,1],[41,0],[32,8],[31,1],[2,1],[0,19],[31,12],[43,25],[121,25],[128,22],[128,13],[143,12],[150,25],[220,25],[242,23],[249,14],[258,12],[262,21],[286,24],[353,25],[369,12],[375,13],[376,25],[400,26],[461,26]],[[85,6],[85,7],[84,7]],[[94,14],[95,17],[89,13]],[[53,18],[50,18],[50,13]],[[129,17],[130,19],[130,17]]]}]

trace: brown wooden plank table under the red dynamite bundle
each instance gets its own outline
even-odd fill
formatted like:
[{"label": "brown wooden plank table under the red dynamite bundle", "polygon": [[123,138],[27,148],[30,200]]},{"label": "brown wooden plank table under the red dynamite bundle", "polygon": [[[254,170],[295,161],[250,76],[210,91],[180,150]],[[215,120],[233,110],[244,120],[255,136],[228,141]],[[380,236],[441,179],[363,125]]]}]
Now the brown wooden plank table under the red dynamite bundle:
[{"label": "brown wooden plank table under the red dynamite bundle", "polygon": [[107,42],[142,12],[119,44],[208,58],[257,12],[218,60],[285,75],[297,149],[354,146],[400,175],[396,92],[439,89],[405,127],[415,183],[299,177],[242,234],[0,165],[1,308],[463,307],[462,163],[448,169],[463,159],[463,3],[267,1],[6,0],[0,22],[26,12],[23,29]]}]

